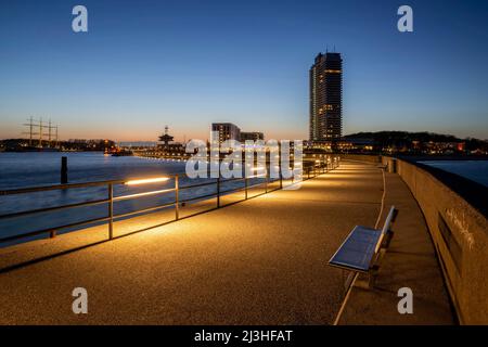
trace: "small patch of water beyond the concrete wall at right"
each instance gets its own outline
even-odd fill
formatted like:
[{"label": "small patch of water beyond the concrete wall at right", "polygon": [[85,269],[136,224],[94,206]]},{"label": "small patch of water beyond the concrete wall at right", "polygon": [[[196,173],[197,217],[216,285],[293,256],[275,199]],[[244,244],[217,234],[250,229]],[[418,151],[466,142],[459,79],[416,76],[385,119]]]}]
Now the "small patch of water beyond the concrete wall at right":
[{"label": "small patch of water beyond the concrete wall at right", "polygon": [[488,187],[488,160],[431,160],[421,163]]}]

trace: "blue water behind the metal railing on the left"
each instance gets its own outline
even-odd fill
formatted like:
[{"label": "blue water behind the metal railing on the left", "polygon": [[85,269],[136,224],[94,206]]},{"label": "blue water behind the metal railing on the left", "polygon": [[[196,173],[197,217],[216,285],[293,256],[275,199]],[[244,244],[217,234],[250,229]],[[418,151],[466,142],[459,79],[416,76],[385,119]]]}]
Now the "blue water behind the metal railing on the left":
[{"label": "blue water behind the metal railing on the left", "polygon": [[[166,176],[184,172],[183,162],[157,160],[140,157],[113,157],[102,153],[0,153],[0,190],[60,183],[61,157],[68,157],[69,183],[103,181],[114,179],[133,179]],[[191,180],[180,178],[180,187],[215,181],[215,179]],[[221,190],[235,188],[243,182],[223,183]],[[140,187],[116,185],[114,195],[127,195],[138,192],[174,188],[171,179],[164,183]],[[180,200],[215,193],[216,185],[180,191]],[[73,189],[67,191],[48,191],[39,193],[0,196],[0,216],[22,210],[31,210],[49,206],[89,202],[105,198],[105,187]],[[114,204],[114,214],[158,206],[175,201],[175,193],[127,200]],[[40,213],[29,217],[0,219],[0,239],[29,231],[54,228],[87,219],[104,217],[107,206],[89,206],[65,209],[55,213]],[[4,246],[5,244],[0,244]]]}]

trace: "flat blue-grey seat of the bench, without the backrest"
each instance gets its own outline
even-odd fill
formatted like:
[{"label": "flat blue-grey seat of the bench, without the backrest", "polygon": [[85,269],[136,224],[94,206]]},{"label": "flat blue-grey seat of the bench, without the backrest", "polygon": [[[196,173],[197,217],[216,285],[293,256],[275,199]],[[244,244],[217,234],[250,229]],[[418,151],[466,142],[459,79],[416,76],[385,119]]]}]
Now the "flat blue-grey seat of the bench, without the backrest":
[{"label": "flat blue-grey seat of the bench, without the backrest", "polygon": [[381,230],[356,226],[329,260],[329,265],[368,272],[381,234]]}]

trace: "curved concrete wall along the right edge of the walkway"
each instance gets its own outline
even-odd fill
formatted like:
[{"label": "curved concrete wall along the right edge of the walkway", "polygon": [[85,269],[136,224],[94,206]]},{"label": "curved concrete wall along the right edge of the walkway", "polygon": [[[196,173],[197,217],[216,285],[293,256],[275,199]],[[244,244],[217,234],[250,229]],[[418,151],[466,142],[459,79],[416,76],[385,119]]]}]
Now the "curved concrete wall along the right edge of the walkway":
[{"label": "curved concrete wall along the right edge of the walkway", "polygon": [[397,172],[425,216],[460,322],[488,324],[487,219],[416,165],[397,159]]}]

